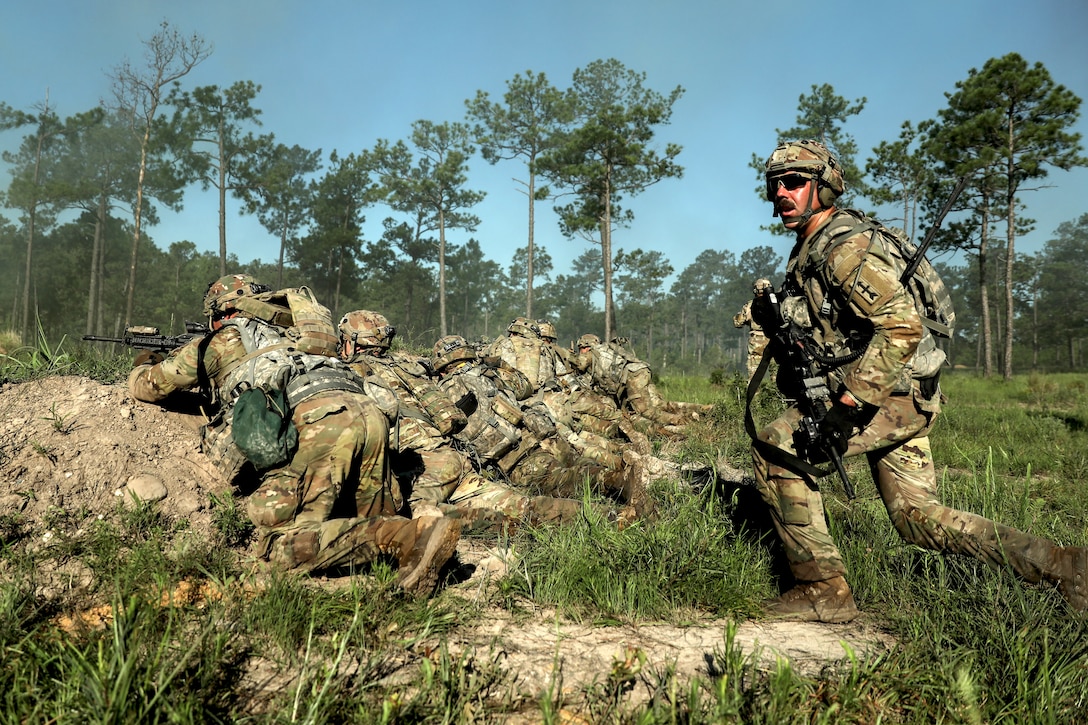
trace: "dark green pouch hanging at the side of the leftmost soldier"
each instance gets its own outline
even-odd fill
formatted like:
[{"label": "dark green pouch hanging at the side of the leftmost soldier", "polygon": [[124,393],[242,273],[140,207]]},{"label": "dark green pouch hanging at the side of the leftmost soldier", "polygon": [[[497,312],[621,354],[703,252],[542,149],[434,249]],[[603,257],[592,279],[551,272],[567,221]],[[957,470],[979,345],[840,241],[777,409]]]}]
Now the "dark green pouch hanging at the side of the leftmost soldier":
[{"label": "dark green pouch hanging at the side of the leftmost soldier", "polygon": [[284,465],[298,448],[298,430],[282,390],[244,391],[234,402],[231,428],[234,442],[258,470]]}]

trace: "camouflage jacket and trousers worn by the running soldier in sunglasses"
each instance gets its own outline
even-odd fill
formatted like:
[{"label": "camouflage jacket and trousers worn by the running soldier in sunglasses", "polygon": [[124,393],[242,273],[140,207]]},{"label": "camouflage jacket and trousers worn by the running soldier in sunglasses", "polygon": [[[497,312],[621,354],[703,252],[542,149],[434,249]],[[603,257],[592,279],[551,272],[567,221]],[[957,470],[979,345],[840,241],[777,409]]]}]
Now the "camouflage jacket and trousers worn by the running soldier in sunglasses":
[{"label": "camouflage jacket and trousers worn by the running soldier in sunglasses", "polygon": [[[904,541],[967,554],[993,566],[1009,565],[1028,581],[1041,580],[1048,576],[1054,551],[1051,542],[938,501],[928,433],[940,410],[940,393],[927,397],[910,374],[923,336],[918,315],[879,241],[870,243],[867,234],[860,234],[824,260],[820,245],[834,228],[832,216],[813,236],[798,243],[787,266],[786,287],[798,291],[804,302],[795,308],[802,311],[794,314],[794,321],[807,322],[806,329],[837,355],[849,352],[852,332],[870,324],[874,329],[857,361],[829,376],[831,391],[846,389],[856,398],[879,406],[871,422],[850,440],[845,457],[866,456],[877,491]],[[821,308],[828,310],[826,316],[817,315]],[[805,310],[811,320],[799,320]],[[790,408],[758,437],[795,453],[793,434],[800,419],[801,413]],[[752,456],[756,486],[771,509],[794,577],[824,581],[844,575],[816,483],[768,460],[754,447]]]}]

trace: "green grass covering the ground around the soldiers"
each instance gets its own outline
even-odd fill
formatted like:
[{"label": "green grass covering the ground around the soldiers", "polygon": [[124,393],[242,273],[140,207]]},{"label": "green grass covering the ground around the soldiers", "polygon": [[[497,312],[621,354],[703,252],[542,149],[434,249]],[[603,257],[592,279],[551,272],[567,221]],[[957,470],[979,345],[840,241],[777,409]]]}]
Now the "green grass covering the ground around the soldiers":
[{"label": "green grass covering the ground around the soldiers", "polygon": [[[0,377],[88,374],[115,382],[129,361],[55,348],[0,357]],[[750,469],[743,381],[666,378],[670,397],[714,404],[676,454]],[[947,376],[932,433],[942,500],[1065,544],[1088,543],[1081,481],[1088,468],[1088,376],[1011,382]],[[781,408],[764,388],[758,420]],[[55,426],[66,420],[51,411]],[[517,692],[500,653],[455,650],[457,627],[483,604],[531,616],[539,605],[601,626],[758,616],[780,557],[751,486],[658,481],[656,518],[617,530],[588,514],[561,528],[521,529],[518,564],[481,604],[448,592],[418,601],[375,566],[349,586],[250,576],[240,557],[251,528],[236,502],[209,502],[218,540],[197,541],[152,506],[118,506],[77,533],[79,512],[57,509],[53,532],[0,515],[0,723],[477,723],[518,713],[599,723],[1078,723],[1088,722],[1088,627],[1047,586],[966,557],[903,543],[864,464],[858,499],[825,484],[832,531],[858,605],[899,644],[866,661],[803,676],[767,672],[727,628],[714,676],[647,672],[636,650],[572,690],[557,677]],[[58,566],[90,572],[87,588],[42,586]],[[219,597],[163,606],[180,582]],[[65,632],[59,616],[109,605],[104,628]],[[251,691],[255,671],[280,683]],[[635,681],[653,696],[632,706]],[[577,698],[577,703],[573,701]]]}]

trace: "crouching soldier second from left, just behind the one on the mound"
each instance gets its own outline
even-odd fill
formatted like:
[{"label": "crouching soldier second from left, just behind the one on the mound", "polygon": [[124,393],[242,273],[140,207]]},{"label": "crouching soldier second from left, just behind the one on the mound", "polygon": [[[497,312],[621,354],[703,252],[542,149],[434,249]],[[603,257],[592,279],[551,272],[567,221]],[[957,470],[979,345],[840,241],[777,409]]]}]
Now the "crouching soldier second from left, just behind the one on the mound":
[{"label": "crouching soldier second from left, just behind the one on the mound", "polygon": [[[465,411],[431,378],[428,365],[404,353],[391,353],[396,330],[384,315],[356,310],[341,318],[339,356],[364,380],[380,378],[396,401],[382,407],[392,419],[391,446],[405,460],[415,459],[407,494],[416,509],[437,509],[474,528],[511,520],[561,521],[581,509],[581,502],[527,496],[481,476],[457,450],[452,435],[469,422]],[[378,390],[374,394],[380,394]],[[461,396],[462,397],[462,396]],[[458,400],[461,400],[458,397]],[[474,403],[466,398],[462,406]]]}]

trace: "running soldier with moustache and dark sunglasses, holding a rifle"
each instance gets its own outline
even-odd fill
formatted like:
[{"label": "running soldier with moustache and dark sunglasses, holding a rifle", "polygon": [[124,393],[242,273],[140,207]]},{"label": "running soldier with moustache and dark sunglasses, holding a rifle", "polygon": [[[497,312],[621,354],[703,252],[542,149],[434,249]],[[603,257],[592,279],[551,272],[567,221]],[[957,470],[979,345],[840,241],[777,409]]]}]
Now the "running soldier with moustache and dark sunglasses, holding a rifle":
[{"label": "running soldier with moustache and dark sunglasses, holding a rifle", "polygon": [[[886,247],[890,243],[836,207],[844,191],[838,160],[817,142],[784,143],[767,159],[766,181],[774,214],[796,234],[778,295],[782,316],[805,331],[807,344],[828,360],[821,365],[831,401],[819,426],[820,440],[843,456],[866,456],[905,541],[1007,565],[1028,581],[1056,583],[1074,609],[1086,609],[1088,549],[1058,546],[938,501],[929,430],[940,411],[942,356],[934,354],[939,348],[900,283],[901,270]],[[767,299],[764,294],[753,306],[765,329],[777,324],[762,304]],[[771,345],[778,347],[777,337]],[[789,385],[782,392],[798,394]],[[756,484],[796,579],[796,586],[767,604],[767,612],[849,622],[857,607],[846,567],[828,531],[815,480],[795,463],[801,419],[794,405],[753,441]]]}]

